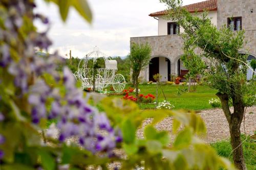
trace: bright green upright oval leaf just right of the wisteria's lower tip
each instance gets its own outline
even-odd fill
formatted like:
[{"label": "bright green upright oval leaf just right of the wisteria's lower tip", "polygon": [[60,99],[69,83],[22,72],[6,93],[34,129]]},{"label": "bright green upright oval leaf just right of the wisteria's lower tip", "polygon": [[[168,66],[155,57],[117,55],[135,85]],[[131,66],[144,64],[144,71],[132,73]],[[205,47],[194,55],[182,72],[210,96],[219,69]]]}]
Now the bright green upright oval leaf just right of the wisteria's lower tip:
[{"label": "bright green upright oval leaf just right of the wisteria's lower tip", "polygon": [[134,143],[135,137],[136,137],[135,136],[136,128],[130,119],[126,119],[125,122],[122,123],[121,130],[122,130],[124,142],[125,143]]}]

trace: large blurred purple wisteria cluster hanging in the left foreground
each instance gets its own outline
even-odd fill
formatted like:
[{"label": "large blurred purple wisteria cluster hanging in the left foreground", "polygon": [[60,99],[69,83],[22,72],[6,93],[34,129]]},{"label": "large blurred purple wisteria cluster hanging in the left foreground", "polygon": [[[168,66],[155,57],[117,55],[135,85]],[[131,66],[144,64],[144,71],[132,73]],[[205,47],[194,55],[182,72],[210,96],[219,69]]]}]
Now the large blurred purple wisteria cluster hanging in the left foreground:
[{"label": "large blurred purple wisteria cluster hanging in the left foreground", "polygon": [[[83,91],[76,88],[74,76],[67,67],[63,69],[63,76],[56,71],[56,63],[61,62],[57,53],[41,57],[35,53],[35,48],[47,50],[51,45],[47,32],[31,31],[24,41],[18,39],[17,43],[23,45],[24,50],[17,51],[18,59],[14,60],[10,55],[11,42],[8,38],[17,38],[17,28],[23,25],[23,16],[26,11],[32,11],[33,7],[29,1],[13,1],[8,4],[8,9],[12,9],[14,14],[4,18],[6,30],[0,30],[0,41],[4,42],[0,46],[0,69],[7,68],[8,74],[13,76],[13,83],[19,89],[17,98],[28,96],[31,121],[34,124],[40,123],[42,118],[56,118],[60,142],[77,136],[82,147],[93,153],[111,152],[116,143],[122,140],[120,131],[112,128],[104,113],[99,113],[96,108],[87,104]],[[35,18],[45,24],[49,23],[42,15],[33,15],[33,19]],[[56,84],[62,82],[63,85],[50,84],[44,79],[46,75],[53,78]]]}]

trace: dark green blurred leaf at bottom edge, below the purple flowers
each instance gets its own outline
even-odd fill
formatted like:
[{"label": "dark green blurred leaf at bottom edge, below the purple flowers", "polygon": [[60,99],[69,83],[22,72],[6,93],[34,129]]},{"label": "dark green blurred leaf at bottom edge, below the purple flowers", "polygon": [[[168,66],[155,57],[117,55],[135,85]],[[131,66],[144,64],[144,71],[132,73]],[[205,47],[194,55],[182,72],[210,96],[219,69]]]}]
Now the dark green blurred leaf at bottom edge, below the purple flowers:
[{"label": "dark green blurred leaf at bottom edge, below the purple flowers", "polygon": [[40,150],[39,155],[41,156],[42,167],[46,170],[54,170],[56,168],[56,163],[54,157],[47,150]]}]

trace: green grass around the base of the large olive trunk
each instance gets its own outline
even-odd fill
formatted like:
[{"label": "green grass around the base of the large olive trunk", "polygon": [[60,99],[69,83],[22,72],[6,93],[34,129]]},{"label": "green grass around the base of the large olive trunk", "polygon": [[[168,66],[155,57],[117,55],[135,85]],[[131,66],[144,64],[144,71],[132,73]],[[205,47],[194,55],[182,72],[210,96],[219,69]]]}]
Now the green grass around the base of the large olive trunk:
[{"label": "green grass around the base of the large olive trunk", "polygon": [[[242,135],[242,141],[246,139],[245,135]],[[229,140],[222,140],[216,143],[212,143],[211,147],[213,147],[220,156],[228,158],[232,161],[232,154],[230,155],[232,149]],[[248,170],[256,169],[256,141],[248,138],[243,143],[243,152],[245,163]]]}]

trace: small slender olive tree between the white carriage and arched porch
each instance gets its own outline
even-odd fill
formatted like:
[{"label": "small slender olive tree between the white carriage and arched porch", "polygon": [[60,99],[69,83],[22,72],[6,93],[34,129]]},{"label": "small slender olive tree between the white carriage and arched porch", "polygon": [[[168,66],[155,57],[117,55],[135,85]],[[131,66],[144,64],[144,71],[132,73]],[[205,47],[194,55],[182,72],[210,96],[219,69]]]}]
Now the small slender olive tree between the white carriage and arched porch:
[{"label": "small slender olive tree between the white carriage and arched porch", "polygon": [[132,73],[132,81],[136,88],[136,96],[138,98],[138,87],[139,87],[139,75],[140,71],[145,68],[146,65],[149,64],[151,58],[151,47],[148,43],[145,44],[137,44],[132,43],[131,45],[131,53],[128,56],[129,63]]}]

